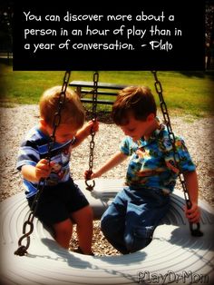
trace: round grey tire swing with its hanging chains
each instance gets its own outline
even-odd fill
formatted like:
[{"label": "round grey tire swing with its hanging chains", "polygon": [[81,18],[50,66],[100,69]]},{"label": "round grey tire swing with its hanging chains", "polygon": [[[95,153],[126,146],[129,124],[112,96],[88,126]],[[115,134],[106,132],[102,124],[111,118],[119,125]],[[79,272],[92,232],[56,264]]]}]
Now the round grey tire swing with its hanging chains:
[{"label": "round grey tire swing with its hanging chains", "polygon": [[[172,134],[173,145],[173,133],[162,97],[161,84],[157,73],[153,72],[153,74],[156,91],[160,96],[161,111],[169,133]],[[59,99],[59,110],[53,120],[53,142],[55,129],[60,123],[63,96],[69,77],[70,73],[66,72]],[[96,120],[97,73],[94,73],[93,82],[92,120]],[[90,171],[92,171],[94,149],[93,136],[92,131]],[[51,147],[50,144],[50,149]],[[116,193],[122,189],[123,184],[122,180],[109,179],[98,179],[96,185],[95,182],[90,185],[89,182],[82,180],[75,182],[90,201],[96,218],[102,216],[103,211],[112,202]],[[0,208],[2,257],[0,280],[2,284],[212,284],[214,280],[212,237],[214,210],[207,203],[199,201],[200,224],[189,225],[184,217],[183,207],[185,204],[190,206],[190,199],[182,176],[180,182],[184,188],[184,198],[183,193],[178,190],[171,194],[170,211],[155,229],[151,243],[141,251],[121,256],[92,257],[66,251],[53,240],[52,235],[44,229],[41,222],[34,218],[34,211],[29,210],[24,192],[6,199],[1,202]],[[85,183],[89,191],[85,191]],[[34,209],[39,202],[39,194],[43,191],[40,185],[38,188]],[[203,236],[201,236],[200,227]],[[30,246],[30,235],[32,242],[27,251]]]}]

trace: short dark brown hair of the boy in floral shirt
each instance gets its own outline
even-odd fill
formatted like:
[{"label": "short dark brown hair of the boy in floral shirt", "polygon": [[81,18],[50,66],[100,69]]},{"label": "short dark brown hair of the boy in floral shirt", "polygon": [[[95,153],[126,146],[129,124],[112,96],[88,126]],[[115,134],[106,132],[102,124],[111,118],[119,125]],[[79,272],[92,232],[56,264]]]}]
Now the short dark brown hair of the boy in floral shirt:
[{"label": "short dark brown hair of the boy in floral shirt", "polygon": [[156,116],[157,106],[151,90],[145,86],[130,86],[122,89],[112,106],[112,120],[118,125],[129,123],[129,115],[145,121],[150,113]]}]

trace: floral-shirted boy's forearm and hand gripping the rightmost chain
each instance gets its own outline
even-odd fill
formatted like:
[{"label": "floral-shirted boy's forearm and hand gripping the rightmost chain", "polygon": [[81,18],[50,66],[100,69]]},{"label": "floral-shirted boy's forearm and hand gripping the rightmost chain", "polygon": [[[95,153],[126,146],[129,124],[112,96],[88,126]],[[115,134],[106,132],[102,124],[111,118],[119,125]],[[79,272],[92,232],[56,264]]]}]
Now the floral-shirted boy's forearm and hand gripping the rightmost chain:
[{"label": "floral-shirted boy's forearm and hand gripping the rightmost chain", "polygon": [[198,206],[198,196],[199,196],[199,184],[197,172],[184,172],[184,180],[190,195],[191,208],[190,210],[185,208],[186,216],[190,222],[197,223],[199,222],[200,212]]}]

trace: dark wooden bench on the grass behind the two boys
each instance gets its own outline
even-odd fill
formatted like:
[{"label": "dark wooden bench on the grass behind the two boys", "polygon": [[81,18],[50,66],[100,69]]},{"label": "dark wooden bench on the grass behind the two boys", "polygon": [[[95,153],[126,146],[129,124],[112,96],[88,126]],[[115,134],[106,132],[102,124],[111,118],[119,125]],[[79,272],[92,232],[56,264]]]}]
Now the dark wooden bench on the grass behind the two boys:
[{"label": "dark wooden bench on the grass behind the two boys", "polygon": [[[85,98],[84,96],[87,94],[92,94],[93,90],[93,82],[89,81],[72,81],[69,86],[75,87],[76,93],[81,98],[81,101],[83,103],[92,103],[91,98]],[[123,85],[123,84],[108,84],[108,83],[98,83],[97,84],[97,103],[102,103],[102,104],[112,104],[114,100],[103,100],[99,98],[99,95],[108,95],[116,97],[117,93],[119,90],[122,90],[123,88],[127,87],[128,85]],[[115,99],[115,98],[114,98]]]}]

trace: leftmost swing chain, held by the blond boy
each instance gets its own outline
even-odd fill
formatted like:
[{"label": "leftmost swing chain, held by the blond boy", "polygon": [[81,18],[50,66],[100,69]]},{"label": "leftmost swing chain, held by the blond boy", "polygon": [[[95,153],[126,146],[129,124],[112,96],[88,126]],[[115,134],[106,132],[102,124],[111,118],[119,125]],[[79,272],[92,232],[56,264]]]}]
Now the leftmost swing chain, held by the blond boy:
[{"label": "leftmost swing chain, held by the blond boy", "polygon": [[[48,154],[47,154],[47,160],[49,163],[51,162],[51,152],[53,149],[53,145],[55,143],[55,132],[56,132],[56,129],[61,122],[61,112],[62,112],[64,101],[65,101],[66,89],[67,89],[67,85],[69,82],[70,74],[71,74],[70,71],[66,71],[64,74],[63,86],[62,86],[62,90],[61,90],[61,93],[59,96],[58,109],[57,109],[57,112],[54,114],[54,117],[53,117],[53,133],[50,136],[50,142],[48,143]],[[36,194],[34,197],[33,204],[31,206],[31,211],[29,213],[27,221],[24,221],[23,236],[18,241],[19,248],[15,251],[15,255],[24,256],[25,254],[27,254],[27,249],[30,246],[30,235],[34,231],[34,216],[35,216],[35,212],[36,212],[36,209],[38,206],[39,198],[40,198],[42,192],[44,191],[45,181],[46,180],[44,178],[42,178],[38,182],[37,191],[36,191]],[[27,226],[29,226],[29,231],[26,232]],[[26,239],[26,245],[22,244],[24,239]]]}]

